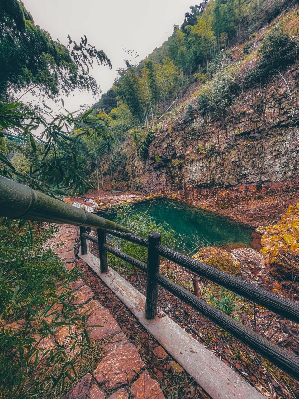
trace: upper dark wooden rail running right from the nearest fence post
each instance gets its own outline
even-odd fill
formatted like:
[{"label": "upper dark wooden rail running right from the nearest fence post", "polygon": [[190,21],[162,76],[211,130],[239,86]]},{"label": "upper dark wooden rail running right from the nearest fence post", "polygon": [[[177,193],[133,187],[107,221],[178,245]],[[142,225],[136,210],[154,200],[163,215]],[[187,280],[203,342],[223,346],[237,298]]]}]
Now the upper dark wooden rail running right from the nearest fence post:
[{"label": "upper dark wooden rail running right from the nearest fence post", "polygon": [[260,306],[272,310],[282,317],[292,320],[295,323],[299,323],[299,305],[294,302],[281,298],[272,292],[259,288],[242,279],[238,279],[228,273],[224,273],[212,266],[205,265],[195,259],[181,255],[178,252],[163,247],[163,245],[157,245],[155,249],[159,255],[169,259],[169,261],[173,261],[210,281],[216,282],[217,284],[256,302]]}]

